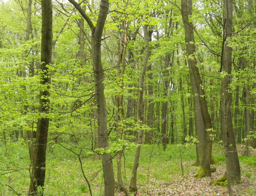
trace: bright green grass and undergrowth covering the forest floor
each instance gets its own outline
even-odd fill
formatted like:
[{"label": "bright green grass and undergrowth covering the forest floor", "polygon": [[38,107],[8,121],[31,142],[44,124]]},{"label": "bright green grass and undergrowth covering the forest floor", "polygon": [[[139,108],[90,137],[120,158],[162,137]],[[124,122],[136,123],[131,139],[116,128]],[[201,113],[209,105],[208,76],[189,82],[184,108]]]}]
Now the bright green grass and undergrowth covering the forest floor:
[{"label": "bright green grass and undergrowth covering the forest floor", "polygon": [[[136,148],[131,148],[125,151],[122,156],[123,183],[125,186],[128,186],[131,178],[135,151]],[[219,146],[214,145],[212,152],[219,161],[225,161],[225,157],[222,155],[223,151]],[[86,153],[87,151],[83,155],[86,155]],[[182,153],[184,162],[195,160],[195,146],[189,146],[186,149],[182,147]],[[11,186],[21,196],[27,195],[30,183],[28,169],[30,161],[27,146],[20,146],[20,144],[15,143],[9,144],[6,153],[4,147],[0,147],[0,158],[1,174],[4,174],[0,176],[0,196],[17,195],[6,185]],[[140,165],[137,171],[137,182],[139,185],[147,185],[149,160],[150,167],[148,175],[151,187],[161,187],[173,179],[180,178],[180,157],[176,144],[168,145],[166,151],[162,150],[160,144],[148,145],[147,147],[141,148]],[[239,156],[239,160],[248,167],[256,164],[255,156]],[[84,157],[82,161],[84,171],[91,184],[93,195],[102,195],[104,179],[101,162],[94,161],[91,157]],[[116,176],[116,157],[113,158],[113,168]],[[189,170],[197,169],[186,165],[184,167],[184,173],[189,174]],[[247,171],[244,175],[254,181],[250,171]],[[255,188],[248,189],[248,192],[253,191],[255,191]],[[78,159],[74,154],[58,145],[55,146],[53,152],[47,151],[44,195],[89,195],[89,189],[83,179]]]}]

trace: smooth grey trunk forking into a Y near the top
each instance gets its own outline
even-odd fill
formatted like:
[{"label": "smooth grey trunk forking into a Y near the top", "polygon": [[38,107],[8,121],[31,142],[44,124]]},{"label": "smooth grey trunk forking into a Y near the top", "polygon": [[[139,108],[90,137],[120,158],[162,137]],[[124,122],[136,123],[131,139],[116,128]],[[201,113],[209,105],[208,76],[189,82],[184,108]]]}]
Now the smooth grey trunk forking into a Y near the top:
[{"label": "smooth grey trunk forking into a Y near the top", "polygon": [[[74,0],[69,0],[70,3],[79,11],[82,17],[88,23],[91,29],[91,47],[92,47],[92,60],[93,60],[93,73],[95,80],[95,98],[97,105],[97,118],[98,118],[98,139],[99,147],[106,148],[108,144],[108,128],[107,128],[107,114],[106,102],[104,96],[104,70],[101,62],[101,40],[102,32],[108,15],[109,1],[101,0],[100,10],[96,26],[93,25],[91,19],[87,16],[80,5]],[[104,173],[104,195],[111,196],[115,193],[115,179],[113,173],[112,157],[109,154],[103,154],[102,166]]]}]

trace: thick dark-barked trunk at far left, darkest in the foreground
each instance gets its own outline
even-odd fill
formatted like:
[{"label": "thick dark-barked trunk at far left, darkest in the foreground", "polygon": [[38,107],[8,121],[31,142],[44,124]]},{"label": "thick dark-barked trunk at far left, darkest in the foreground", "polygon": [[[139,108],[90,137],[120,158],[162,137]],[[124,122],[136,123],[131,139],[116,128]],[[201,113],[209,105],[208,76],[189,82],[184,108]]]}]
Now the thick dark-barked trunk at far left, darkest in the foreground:
[{"label": "thick dark-barked trunk at far left, darkest in the foreground", "polygon": [[[52,3],[50,0],[43,0],[42,5],[42,40],[41,40],[41,70],[42,77],[40,84],[49,89],[51,73],[47,67],[51,63],[52,52]],[[50,106],[50,93],[44,88],[40,91],[40,113],[42,116],[37,121],[36,144],[33,153],[33,169],[28,195],[42,195],[45,182],[45,160],[46,146],[49,127],[47,112]]]}]

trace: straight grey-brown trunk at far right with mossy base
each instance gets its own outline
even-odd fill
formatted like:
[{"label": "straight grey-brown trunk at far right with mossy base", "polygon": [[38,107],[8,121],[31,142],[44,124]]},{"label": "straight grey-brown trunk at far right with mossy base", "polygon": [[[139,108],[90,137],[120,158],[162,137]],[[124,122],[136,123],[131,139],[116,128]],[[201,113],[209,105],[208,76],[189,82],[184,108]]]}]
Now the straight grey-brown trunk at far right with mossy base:
[{"label": "straight grey-brown trunk at far right with mossy base", "polygon": [[232,92],[229,90],[230,81],[231,81],[231,69],[232,69],[232,48],[229,47],[227,42],[231,41],[232,37],[232,0],[225,0],[224,1],[224,9],[226,18],[225,22],[225,31],[227,35],[227,41],[224,44],[223,50],[223,58],[222,58],[222,67],[223,72],[226,75],[221,80],[221,117],[222,117],[222,132],[225,134],[226,140],[228,141],[228,165],[227,168],[230,169],[230,176],[232,181],[240,181],[241,174],[240,174],[240,165],[238,160],[237,148],[236,148],[236,141],[233,132],[233,125],[232,125],[232,117],[231,117],[231,102],[232,102]]}]

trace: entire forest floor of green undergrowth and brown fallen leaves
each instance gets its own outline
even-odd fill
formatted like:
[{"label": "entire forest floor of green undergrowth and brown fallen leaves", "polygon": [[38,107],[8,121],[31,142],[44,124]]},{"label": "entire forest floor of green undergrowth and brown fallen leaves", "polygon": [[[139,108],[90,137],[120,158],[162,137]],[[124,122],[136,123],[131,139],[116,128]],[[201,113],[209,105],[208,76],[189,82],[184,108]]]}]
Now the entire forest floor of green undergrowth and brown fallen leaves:
[{"label": "entire forest floor of green undergrowth and brown fallen leaves", "polygon": [[[9,145],[8,151],[0,146],[0,196],[27,195],[30,178],[30,165],[27,146],[18,143]],[[181,176],[180,157],[177,144],[168,145],[163,151],[161,145],[145,145],[141,148],[140,165],[137,172],[138,192],[129,196],[221,196],[228,195],[227,187],[210,186],[212,180],[225,173],[225,156],[223,146],[218,143],[212,146],[212,154],[219,160],[216,172],[211,177],[195,179],[198,167],[192,166],[196,157],[195,146],[182,146],[184,176]],[[232,186],[233,196],[256,196],[256,151],[251,157],[244,156],[244,148],[237,146],[241,183]],[[136,148],[130,148],[122,156],[123,184],[129,187],[131,170]],[[8,152],[6,154],[6,152]],[[84,155],[86,155],[86,151]],[[103,195],[104,178],[101,161],[89,156],[82,158],[84,171],[89,179],[93,196]],[[56,145],[47,153],[47,180],[44,196],[88,196],[89,188],[81,173],[81,165],[73,153]],[[116,157],[113,158],[116,175]],[[10,172],[11,171],[11,172]],[[10,188],[12,187],[12,189]],[[14,192],[14,190],[16,192]],[[124,196],[116,191],[115,196]]]}]

